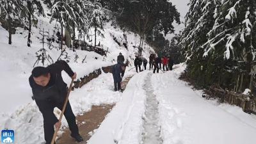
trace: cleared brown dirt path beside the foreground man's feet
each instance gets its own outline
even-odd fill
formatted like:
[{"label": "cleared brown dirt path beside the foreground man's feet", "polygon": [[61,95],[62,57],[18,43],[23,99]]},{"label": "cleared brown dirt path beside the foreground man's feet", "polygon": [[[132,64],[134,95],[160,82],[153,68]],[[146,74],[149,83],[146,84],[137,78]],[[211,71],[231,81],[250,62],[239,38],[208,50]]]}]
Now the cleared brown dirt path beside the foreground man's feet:
[{"label": "cleared brown dirt path beside the foreground man's feet", "polygon": [[[122,89],[125,87],[132,76],[129,76],[122,81]],[[111,111],[115,104],[104,104],[100,106],[92,106],[91,111],[84,113],[84,115],[76,116],[77,125],[81,136],[84,138],[82,143],[86,143],[92,136],[92,132],[98,129],[106,115]],[[77,142],[70,137],[70,131],[68,128],[64,129],[61,138],[56,141],[57,144],[77,144]]]}]

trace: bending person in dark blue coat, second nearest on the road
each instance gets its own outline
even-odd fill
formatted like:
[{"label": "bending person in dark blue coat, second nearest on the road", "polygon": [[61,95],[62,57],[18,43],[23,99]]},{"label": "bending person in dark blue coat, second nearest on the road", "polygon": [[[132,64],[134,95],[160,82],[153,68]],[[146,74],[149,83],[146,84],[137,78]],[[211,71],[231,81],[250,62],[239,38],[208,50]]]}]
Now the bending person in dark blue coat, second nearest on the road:
[{"label": "bending person in dark blue coat, second nearest on the road", "polygon": [[125,64],[116,63],[112,66],[112,75],[114,79],[115,91],[121,90],[121,81],[124,76]]}]

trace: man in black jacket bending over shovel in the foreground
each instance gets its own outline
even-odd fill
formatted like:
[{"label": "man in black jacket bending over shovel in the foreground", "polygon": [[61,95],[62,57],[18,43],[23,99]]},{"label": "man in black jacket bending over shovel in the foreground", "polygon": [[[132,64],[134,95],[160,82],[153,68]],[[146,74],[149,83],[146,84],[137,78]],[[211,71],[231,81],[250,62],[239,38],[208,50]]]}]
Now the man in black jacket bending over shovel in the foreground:
[{"label": "man in black jacket bending over shovel in the foreground", "polygon": [[[56,61],[56,63],[48,67],[35,67],[29,77],[33,98],[44,117],[44,137],[46,144],[51,143],[54,127],[61,127],[61,122],[58,122],[53,110],[55,107],[62,109],[65,98],[67,97],[68,88],[62,79],[62,70],[65,70],[72,79],[76,79],[76,72],[74,73],[66,61],[63,60]],[[76,116],[72,111],[69,101],[67,102],[64,115],[71,131],[70,136],[78,142],[83,141],[76,124]]]}]

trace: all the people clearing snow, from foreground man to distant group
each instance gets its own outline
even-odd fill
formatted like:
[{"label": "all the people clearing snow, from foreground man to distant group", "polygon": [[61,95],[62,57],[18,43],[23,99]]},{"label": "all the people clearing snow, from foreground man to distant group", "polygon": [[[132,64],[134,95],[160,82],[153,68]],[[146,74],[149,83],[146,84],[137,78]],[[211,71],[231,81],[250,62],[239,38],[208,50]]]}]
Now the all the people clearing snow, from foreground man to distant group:
[{"label": "all the people clearing snow, from foreground man to distant group", "polygon": [[[124,61],[124,56],[120,52],[117,57],[117,63],[111,67],[115,91],[122,90],[121,82],[124,76],[125,68],[128,65],[128,63],[124,63]],[[136,72],[138,72],[138,70],[141,71],[142,63],[143,68],[146,70],[148,63],[147,59],[136,56],[134,60]],[[150,69],[154,66],[153,72],[155,73],[156,70],[159,72],[161,64],[163,64],[163,70],[164,68],[166,68],[166,70],[172,70],[173,61],[170,58],[159,58],[155,54],[150,54],[149,64]],[[60,129],[61,127],[61,121],[58,120],[53,113],[54,108],[57,107],[62,109],[63,106],[66,106],[64,115],[71,131],[70,136],[77,142],[83,141],[76,124],[76,116],[74,115],[67,99],[68,87],[61,76],[62,70],[67,72],[68,76],[70,76],[72,79],[76,79],[76,72],[73,72],[68,63],[63,60],[56,61],[56,63],[49,65],[48,67],[35,67],[33,68],[31,76],[29,77],[29,84],[33,92],[33,99],[35,99],[36,105],[44,118],[44,137],[46,144],[50,144],[52,138],[54,138],[54,128],[56,130]]]}]

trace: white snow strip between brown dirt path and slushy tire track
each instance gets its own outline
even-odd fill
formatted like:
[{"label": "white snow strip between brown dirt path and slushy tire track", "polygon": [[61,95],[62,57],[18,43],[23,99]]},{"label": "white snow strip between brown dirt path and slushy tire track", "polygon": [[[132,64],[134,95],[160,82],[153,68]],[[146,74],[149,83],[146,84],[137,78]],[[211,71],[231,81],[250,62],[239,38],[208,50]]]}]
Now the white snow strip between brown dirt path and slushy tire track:
[{"label": "white snow strip between brown dirt path and slushy tire track", "polygon": [[122,94],[122,100],[108,114],[88,144],[135,144],[140,143],[145,113],[143,84],[148,71],[132,77]]}]

